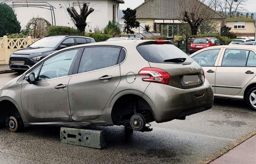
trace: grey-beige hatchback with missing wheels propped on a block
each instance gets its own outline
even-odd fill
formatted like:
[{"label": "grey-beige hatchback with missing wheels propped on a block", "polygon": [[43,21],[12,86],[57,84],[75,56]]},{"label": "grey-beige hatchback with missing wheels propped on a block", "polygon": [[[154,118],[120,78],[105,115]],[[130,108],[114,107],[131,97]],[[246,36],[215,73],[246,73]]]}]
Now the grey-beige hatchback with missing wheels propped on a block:
[{"label": "grey-beige hatchback with missing wheels propped on a block", "polygon": [[172,42],[125,40],[64,48],[0,88],[0,125],[123,125],[185,120],[210,109],[202,67]]}]

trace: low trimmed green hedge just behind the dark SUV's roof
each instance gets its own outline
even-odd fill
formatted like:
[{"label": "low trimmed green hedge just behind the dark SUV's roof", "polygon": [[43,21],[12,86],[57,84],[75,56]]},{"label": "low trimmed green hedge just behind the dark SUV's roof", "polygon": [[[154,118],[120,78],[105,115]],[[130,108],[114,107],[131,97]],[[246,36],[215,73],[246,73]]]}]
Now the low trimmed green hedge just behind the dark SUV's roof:
[{"label": "low trimmed green hedge just behind the dark SUV's roof", "polygon": [[83,33],[71,27],[51,26],[47,35],[83,35]]}]

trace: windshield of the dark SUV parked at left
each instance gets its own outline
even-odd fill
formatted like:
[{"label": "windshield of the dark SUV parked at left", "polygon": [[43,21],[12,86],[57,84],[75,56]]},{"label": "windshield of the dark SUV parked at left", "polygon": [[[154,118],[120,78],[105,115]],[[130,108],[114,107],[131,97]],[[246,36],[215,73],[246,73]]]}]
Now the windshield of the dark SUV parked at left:
[{"label": "windshield of the dark SUV parked at left", "polygon": [[60,41],[64,38],[60,36],[52,36],[52,37],[45,37],[42,39],[37,40],[33,44],[31,44],[29,47],[46,47],[46,48],[53,48],[56,47],[57,44],[60,43]]}]

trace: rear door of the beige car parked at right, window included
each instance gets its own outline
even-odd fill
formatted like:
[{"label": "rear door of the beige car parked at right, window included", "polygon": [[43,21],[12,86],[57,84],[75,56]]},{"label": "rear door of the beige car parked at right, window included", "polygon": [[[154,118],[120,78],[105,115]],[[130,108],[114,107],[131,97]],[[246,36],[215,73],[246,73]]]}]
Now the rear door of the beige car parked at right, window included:
[{"label": "rear door of the beige car parked at right, window included", "polygon": [[250,53],[254,52],[242,48],[225,48],[223,50],[216,70],[216,94],[237,95],[251,81],[256,70],[254,67],[246,67]]}]

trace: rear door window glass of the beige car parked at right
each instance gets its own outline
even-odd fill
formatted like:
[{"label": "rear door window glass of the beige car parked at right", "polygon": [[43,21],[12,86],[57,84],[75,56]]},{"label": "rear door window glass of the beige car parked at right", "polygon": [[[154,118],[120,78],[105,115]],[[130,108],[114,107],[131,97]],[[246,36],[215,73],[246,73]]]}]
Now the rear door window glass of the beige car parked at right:
[{"label": "rear door window glass of the beige car parked at right", "polygon": [[249,50],[226,49],[222,65],[224,67],[245,67]]}]

